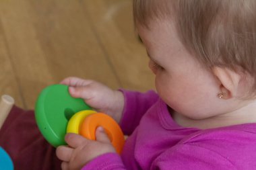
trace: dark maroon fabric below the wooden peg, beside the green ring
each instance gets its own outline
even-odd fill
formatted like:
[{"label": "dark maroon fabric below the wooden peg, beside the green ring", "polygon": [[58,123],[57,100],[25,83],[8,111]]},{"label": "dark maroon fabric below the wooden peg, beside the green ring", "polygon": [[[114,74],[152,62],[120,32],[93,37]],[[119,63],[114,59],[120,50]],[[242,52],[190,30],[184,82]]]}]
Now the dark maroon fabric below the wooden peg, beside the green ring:
[{"label": "dark maroon fabric below the wooden peg, beside the green ring", "polygon": [[0,130],[0,146],[9,153],[15,170],[57,170],[55,148],[40,134],[33,111],[14,106]]}]

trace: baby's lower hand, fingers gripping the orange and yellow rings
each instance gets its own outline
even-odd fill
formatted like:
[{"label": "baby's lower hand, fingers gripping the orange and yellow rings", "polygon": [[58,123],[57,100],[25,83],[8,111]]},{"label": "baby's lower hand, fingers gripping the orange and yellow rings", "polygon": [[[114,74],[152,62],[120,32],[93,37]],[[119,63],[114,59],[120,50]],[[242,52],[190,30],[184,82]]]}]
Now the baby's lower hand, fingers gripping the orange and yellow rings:
[{"label": "baby's lower hand, fingers gripping the orange and yellow rings", "polygon": [[63,170],[82,169],[92,159],[104,153],[116,152],[102,127],[96,130],[96,140],[88,140],[78,134],[67,134],[65,141],[69,146],[59,146],[56,151],[57,157],[63,161]]}]

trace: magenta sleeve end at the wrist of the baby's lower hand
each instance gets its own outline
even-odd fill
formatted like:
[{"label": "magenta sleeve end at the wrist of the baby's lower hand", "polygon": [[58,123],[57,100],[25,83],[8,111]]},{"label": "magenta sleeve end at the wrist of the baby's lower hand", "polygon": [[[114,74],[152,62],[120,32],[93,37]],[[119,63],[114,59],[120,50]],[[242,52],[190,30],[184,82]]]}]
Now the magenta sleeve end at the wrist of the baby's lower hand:
[{"label": "magenta sleeve end at the wrist of the baby's lower hand", "polygon": [[125,165],[117,153],[106,153],[90,161],[82,170],[124,170]]}]

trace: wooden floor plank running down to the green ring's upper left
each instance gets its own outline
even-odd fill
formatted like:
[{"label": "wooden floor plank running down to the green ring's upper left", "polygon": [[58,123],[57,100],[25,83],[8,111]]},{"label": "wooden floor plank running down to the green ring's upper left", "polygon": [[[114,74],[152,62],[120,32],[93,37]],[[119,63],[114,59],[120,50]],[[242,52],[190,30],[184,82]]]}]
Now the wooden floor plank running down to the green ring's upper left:
[{"label": "wooden floor plank running down to the green ring's upper left", "polygon": [[34,30],[33,13],[28,1],[1,1],[0,12],[24,108],[34,108],[35,94],[54,80]]}]

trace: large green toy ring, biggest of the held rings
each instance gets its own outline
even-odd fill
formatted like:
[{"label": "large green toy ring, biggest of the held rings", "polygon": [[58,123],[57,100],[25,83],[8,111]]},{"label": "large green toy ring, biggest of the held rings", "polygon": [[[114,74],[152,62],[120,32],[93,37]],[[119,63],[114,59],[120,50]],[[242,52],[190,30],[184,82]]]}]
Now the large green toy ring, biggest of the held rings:
[{"label": "large green toy ring, biggest of the held rings", "polygon": [[71,97],[67,85],[51,85],[40,93],[36,101],[36,122],[42,136],[57,147],[66,144],[67,123],[73,114],[92,110],[83,99]]}]

